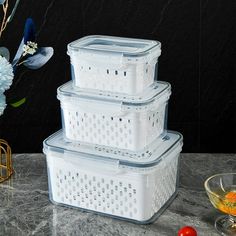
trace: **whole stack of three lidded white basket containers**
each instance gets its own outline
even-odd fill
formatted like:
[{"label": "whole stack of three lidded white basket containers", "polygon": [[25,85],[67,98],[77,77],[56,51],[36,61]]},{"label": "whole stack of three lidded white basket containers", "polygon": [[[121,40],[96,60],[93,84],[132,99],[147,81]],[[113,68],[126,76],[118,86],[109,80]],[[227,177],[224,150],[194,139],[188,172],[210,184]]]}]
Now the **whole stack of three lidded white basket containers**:
[{"label": "whole stack of three lidded white basket containers", "polygon": [[68,45],[72,81],[58,88],[63,129],[44,141],[52,202],[137,223],[177,194],[182,135],[166,129],[161,44],[88,36]]}]

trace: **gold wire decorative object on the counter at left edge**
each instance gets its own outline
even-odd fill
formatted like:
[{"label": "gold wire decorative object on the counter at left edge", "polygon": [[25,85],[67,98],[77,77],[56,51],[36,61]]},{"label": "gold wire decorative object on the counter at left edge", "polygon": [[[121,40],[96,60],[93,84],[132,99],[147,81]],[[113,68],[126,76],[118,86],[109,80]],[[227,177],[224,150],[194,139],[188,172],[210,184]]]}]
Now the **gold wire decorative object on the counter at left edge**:
[{"label": "gold wire decorative object on the counter at left edge", "polygon": [[11,147],[7,141],[0,139],[0,183],[13,174]]}]

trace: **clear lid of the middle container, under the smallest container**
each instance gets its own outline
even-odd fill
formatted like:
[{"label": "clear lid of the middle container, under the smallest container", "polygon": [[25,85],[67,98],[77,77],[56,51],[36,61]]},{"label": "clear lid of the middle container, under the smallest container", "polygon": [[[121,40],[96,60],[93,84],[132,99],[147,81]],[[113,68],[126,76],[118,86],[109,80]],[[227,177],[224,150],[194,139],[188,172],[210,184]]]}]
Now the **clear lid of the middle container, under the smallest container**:
[{"label": "clear lid of the middle container, under the smallest container", "polygon": [[81,89],[73,86],[73,82],[69,81],[57,89],[57,98],[61,101],[65,99],[73,99],[76,101],[93,101],[103,104],[119,105],[127,110],[132,108],[148,109],[148,105],[152,105],[161,100],[167,101],[171,94],[171,86],[167,82],[154,82],[143,93],[137,95],[122,95],[109,93],[104,91],[96,91],[89,89]]}]

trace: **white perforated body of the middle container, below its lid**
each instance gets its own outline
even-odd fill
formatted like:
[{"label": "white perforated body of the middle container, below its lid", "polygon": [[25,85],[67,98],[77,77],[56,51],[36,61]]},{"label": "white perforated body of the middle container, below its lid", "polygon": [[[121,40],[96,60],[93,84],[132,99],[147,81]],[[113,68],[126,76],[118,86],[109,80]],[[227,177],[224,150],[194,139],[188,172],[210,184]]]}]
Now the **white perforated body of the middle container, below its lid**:
[{"label": "white perforated body of the middle container, below its lid", "polygon": [[166,104],[145,112],[98,112],[62,102],[65,138],[109,147],[140,150],[164,134]]}]

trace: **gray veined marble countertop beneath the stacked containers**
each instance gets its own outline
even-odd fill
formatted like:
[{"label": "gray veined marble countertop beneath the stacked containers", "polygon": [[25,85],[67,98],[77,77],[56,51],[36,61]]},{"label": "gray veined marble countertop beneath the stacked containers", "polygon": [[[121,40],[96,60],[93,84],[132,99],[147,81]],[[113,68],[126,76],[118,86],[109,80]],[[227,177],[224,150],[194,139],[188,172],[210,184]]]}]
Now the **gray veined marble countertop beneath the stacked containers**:
[{"label": "gray veined marble countertop beneath the stacked containers", "polygon": [[191,225],[198,235],[218,235],[213,227],[220,214],[210,204],[204,180],[236,170],[236,154],[182,154],[179,193],[150,225],[137,225],[53,205],[48,198],[43,154],[14,155],[14,176],[0,184],[0,235],[177,235]]}]

